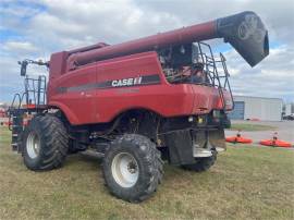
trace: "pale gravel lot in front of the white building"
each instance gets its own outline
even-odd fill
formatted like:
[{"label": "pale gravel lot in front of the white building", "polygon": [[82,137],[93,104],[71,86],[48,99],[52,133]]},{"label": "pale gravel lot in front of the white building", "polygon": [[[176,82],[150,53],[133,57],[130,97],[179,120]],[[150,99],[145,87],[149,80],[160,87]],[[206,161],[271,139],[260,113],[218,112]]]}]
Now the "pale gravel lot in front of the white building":
[{"label": "pale gravel lot in front of the white building", "polygon": [[[275,126],[277,130],[272,131],[256,131],[256,132],[241,132],[244,137],[252,138],[254,143],[261,139],[272,138],[274,132],[278,132],[278,138],[294,144],[294,121],[268,122],[268,121],[240,121],[234,120],[232,123],[249,123],[249,124],[264,124]],[[235,135],[236,131],[225,131],[225,136]]]}]

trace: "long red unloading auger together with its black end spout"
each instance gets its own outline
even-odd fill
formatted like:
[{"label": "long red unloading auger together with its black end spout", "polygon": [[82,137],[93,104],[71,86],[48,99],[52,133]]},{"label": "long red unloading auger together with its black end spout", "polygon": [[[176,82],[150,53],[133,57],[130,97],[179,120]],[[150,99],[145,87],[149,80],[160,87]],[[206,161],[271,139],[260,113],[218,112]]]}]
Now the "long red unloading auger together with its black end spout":
[{"label": "long red unloading auger together with its black end spout", "polygon": [[[254,16],[258,26],[256,29],[260,40],[248,38],[243,40],[238,37],[238,27]],[[249,33],[252,34],[252,33]],[[56,77],[81,65],[123,56],[130,56],[146,51],[155,51],[175,45],[189,44],[213,38],[223,38],[230,42],[237,52],[250,64],[256,65],[268,56],[268,36],[261,20],[254,12],[242,12],[215,21],[182,27],[175,30],[160,33],[149,37],[135,39],[118,45],[99,42],[93,46],[78,48],[70,51],[57,52],[50,59],[50,76]]]}]

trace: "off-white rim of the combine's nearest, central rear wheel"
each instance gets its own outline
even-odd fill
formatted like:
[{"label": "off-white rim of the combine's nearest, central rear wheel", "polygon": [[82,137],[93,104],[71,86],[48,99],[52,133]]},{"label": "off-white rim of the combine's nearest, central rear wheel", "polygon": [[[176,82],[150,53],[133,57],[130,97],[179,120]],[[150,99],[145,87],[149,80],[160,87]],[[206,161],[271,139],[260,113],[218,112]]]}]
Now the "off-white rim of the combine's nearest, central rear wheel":
[{"label": "off-white rim of the combine's nearest, central rear wheel", "polygon": [[131,154],[121,152],[113,158],[111,172],[120,186],[132,187],[138,180],[138,163]]}]

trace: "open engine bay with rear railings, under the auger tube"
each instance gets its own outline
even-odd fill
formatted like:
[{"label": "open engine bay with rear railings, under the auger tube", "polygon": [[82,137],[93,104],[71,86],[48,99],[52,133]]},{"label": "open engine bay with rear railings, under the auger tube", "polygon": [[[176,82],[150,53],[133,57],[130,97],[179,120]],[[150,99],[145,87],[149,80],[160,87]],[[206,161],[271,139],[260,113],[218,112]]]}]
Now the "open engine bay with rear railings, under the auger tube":
[{"label": "open engine bay with rear railings, under the auger tube", "polygon": [[205,42],[173,46],[158,51],[166,78],[171,84],[197,84],[225,87],[229,73],[220,53],[216,60]]}]

